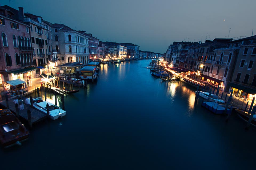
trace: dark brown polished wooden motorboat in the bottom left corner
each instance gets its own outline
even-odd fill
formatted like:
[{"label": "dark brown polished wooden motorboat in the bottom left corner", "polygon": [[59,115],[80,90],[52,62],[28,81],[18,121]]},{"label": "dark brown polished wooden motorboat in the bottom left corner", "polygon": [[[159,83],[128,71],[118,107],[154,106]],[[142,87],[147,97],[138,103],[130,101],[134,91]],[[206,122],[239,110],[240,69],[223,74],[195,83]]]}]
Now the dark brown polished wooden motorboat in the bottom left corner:
[{"label": "dark brown polished wooden motorboat in the bottom left corner", "polygon": [[0,126],[0,143],[5,148],[29,138],[29,131],[9,109],[0,109]]}]

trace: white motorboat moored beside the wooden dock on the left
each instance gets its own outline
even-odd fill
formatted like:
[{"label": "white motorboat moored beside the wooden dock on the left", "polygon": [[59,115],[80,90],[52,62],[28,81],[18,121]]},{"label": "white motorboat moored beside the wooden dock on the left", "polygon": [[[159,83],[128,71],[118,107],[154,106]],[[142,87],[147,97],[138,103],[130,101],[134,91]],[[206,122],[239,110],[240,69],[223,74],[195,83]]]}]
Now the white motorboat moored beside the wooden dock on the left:
[{"label": "white motorboat moored beside the wooden dock on the left", "polygon": [[34,103],[33,106],[35,109],[47,114],[46,104],[49,104],[49,114],[52,120],[56,120],[59,117],[65,116],[66,111],[62,110],[60,107],[55,104],[50,103],[49,101],[43,101],[40,103]]}]

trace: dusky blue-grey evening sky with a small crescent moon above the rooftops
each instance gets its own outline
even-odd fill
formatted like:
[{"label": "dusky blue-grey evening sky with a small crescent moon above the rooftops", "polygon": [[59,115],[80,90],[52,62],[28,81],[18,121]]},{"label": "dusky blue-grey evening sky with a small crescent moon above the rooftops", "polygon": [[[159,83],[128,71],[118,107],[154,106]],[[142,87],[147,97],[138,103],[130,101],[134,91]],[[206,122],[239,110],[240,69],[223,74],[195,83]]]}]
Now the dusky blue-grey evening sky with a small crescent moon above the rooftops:
[{"label": "dusky blue-grey evening sky with a small crescent moon above the rooftops", "polygon": [[11,7],[23,7],[51,23],[157,53],[166,52],[173,41],[227,38],[229,28],[229,38],[251,36],[252,29],[256,33],[255,0],[12,1]]}]

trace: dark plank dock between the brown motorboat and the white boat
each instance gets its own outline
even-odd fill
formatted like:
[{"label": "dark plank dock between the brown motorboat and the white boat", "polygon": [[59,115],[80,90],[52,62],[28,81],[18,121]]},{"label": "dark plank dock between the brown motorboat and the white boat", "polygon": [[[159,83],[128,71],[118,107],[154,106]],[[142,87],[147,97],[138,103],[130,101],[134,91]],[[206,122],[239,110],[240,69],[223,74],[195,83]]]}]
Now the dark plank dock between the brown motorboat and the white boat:
[{"label": "dark plank dock between the brown motorboat and the white boat", "polygon": [[[25,101],[24,99],[25,99],[25,97],[23,97],[23,101]],[[16,115],[16,109],[15,109],[15,104],[14,104],[13,100],[14,99],[11,99],[11,100],[8,101],[9,109],[12,113],[14,113]],[[0,105],[7,108],[6,101],[1,101]],[[40,111],[38,111],[38,110],[36,110],[32,107],[30,107],[29,109],[31,111],[31,122],[32,122],[32,124],[34,124],[36,122],[39,122],[39,121],[41,121],[41,120],[43,120],[47,117],[47,115],[45,113],[42,113],[42,112],[40,112]],[[19,116],[28,121],[26,104],[24,104],[24,110],[19,110]]]}]

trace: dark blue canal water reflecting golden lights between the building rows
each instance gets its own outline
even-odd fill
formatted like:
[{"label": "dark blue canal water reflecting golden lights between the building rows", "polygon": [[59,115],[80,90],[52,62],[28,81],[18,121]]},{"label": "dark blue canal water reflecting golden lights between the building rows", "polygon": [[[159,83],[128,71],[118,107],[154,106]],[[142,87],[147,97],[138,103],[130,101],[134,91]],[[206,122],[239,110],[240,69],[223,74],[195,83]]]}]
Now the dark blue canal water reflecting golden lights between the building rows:
[{"label": "dark blue canal water reflecting golden lights between the building rows", "polygon": [[194,88],[151,76],[149,62],[101,65],[98,82],[65,97],[65,117],[34,125],[21,146],[0,149],[1,167],[255,167],[252,126],[245,130],[246,122],[235,114],[226,123],[225,115],[202,108],[200,98],[194,102]]}]

